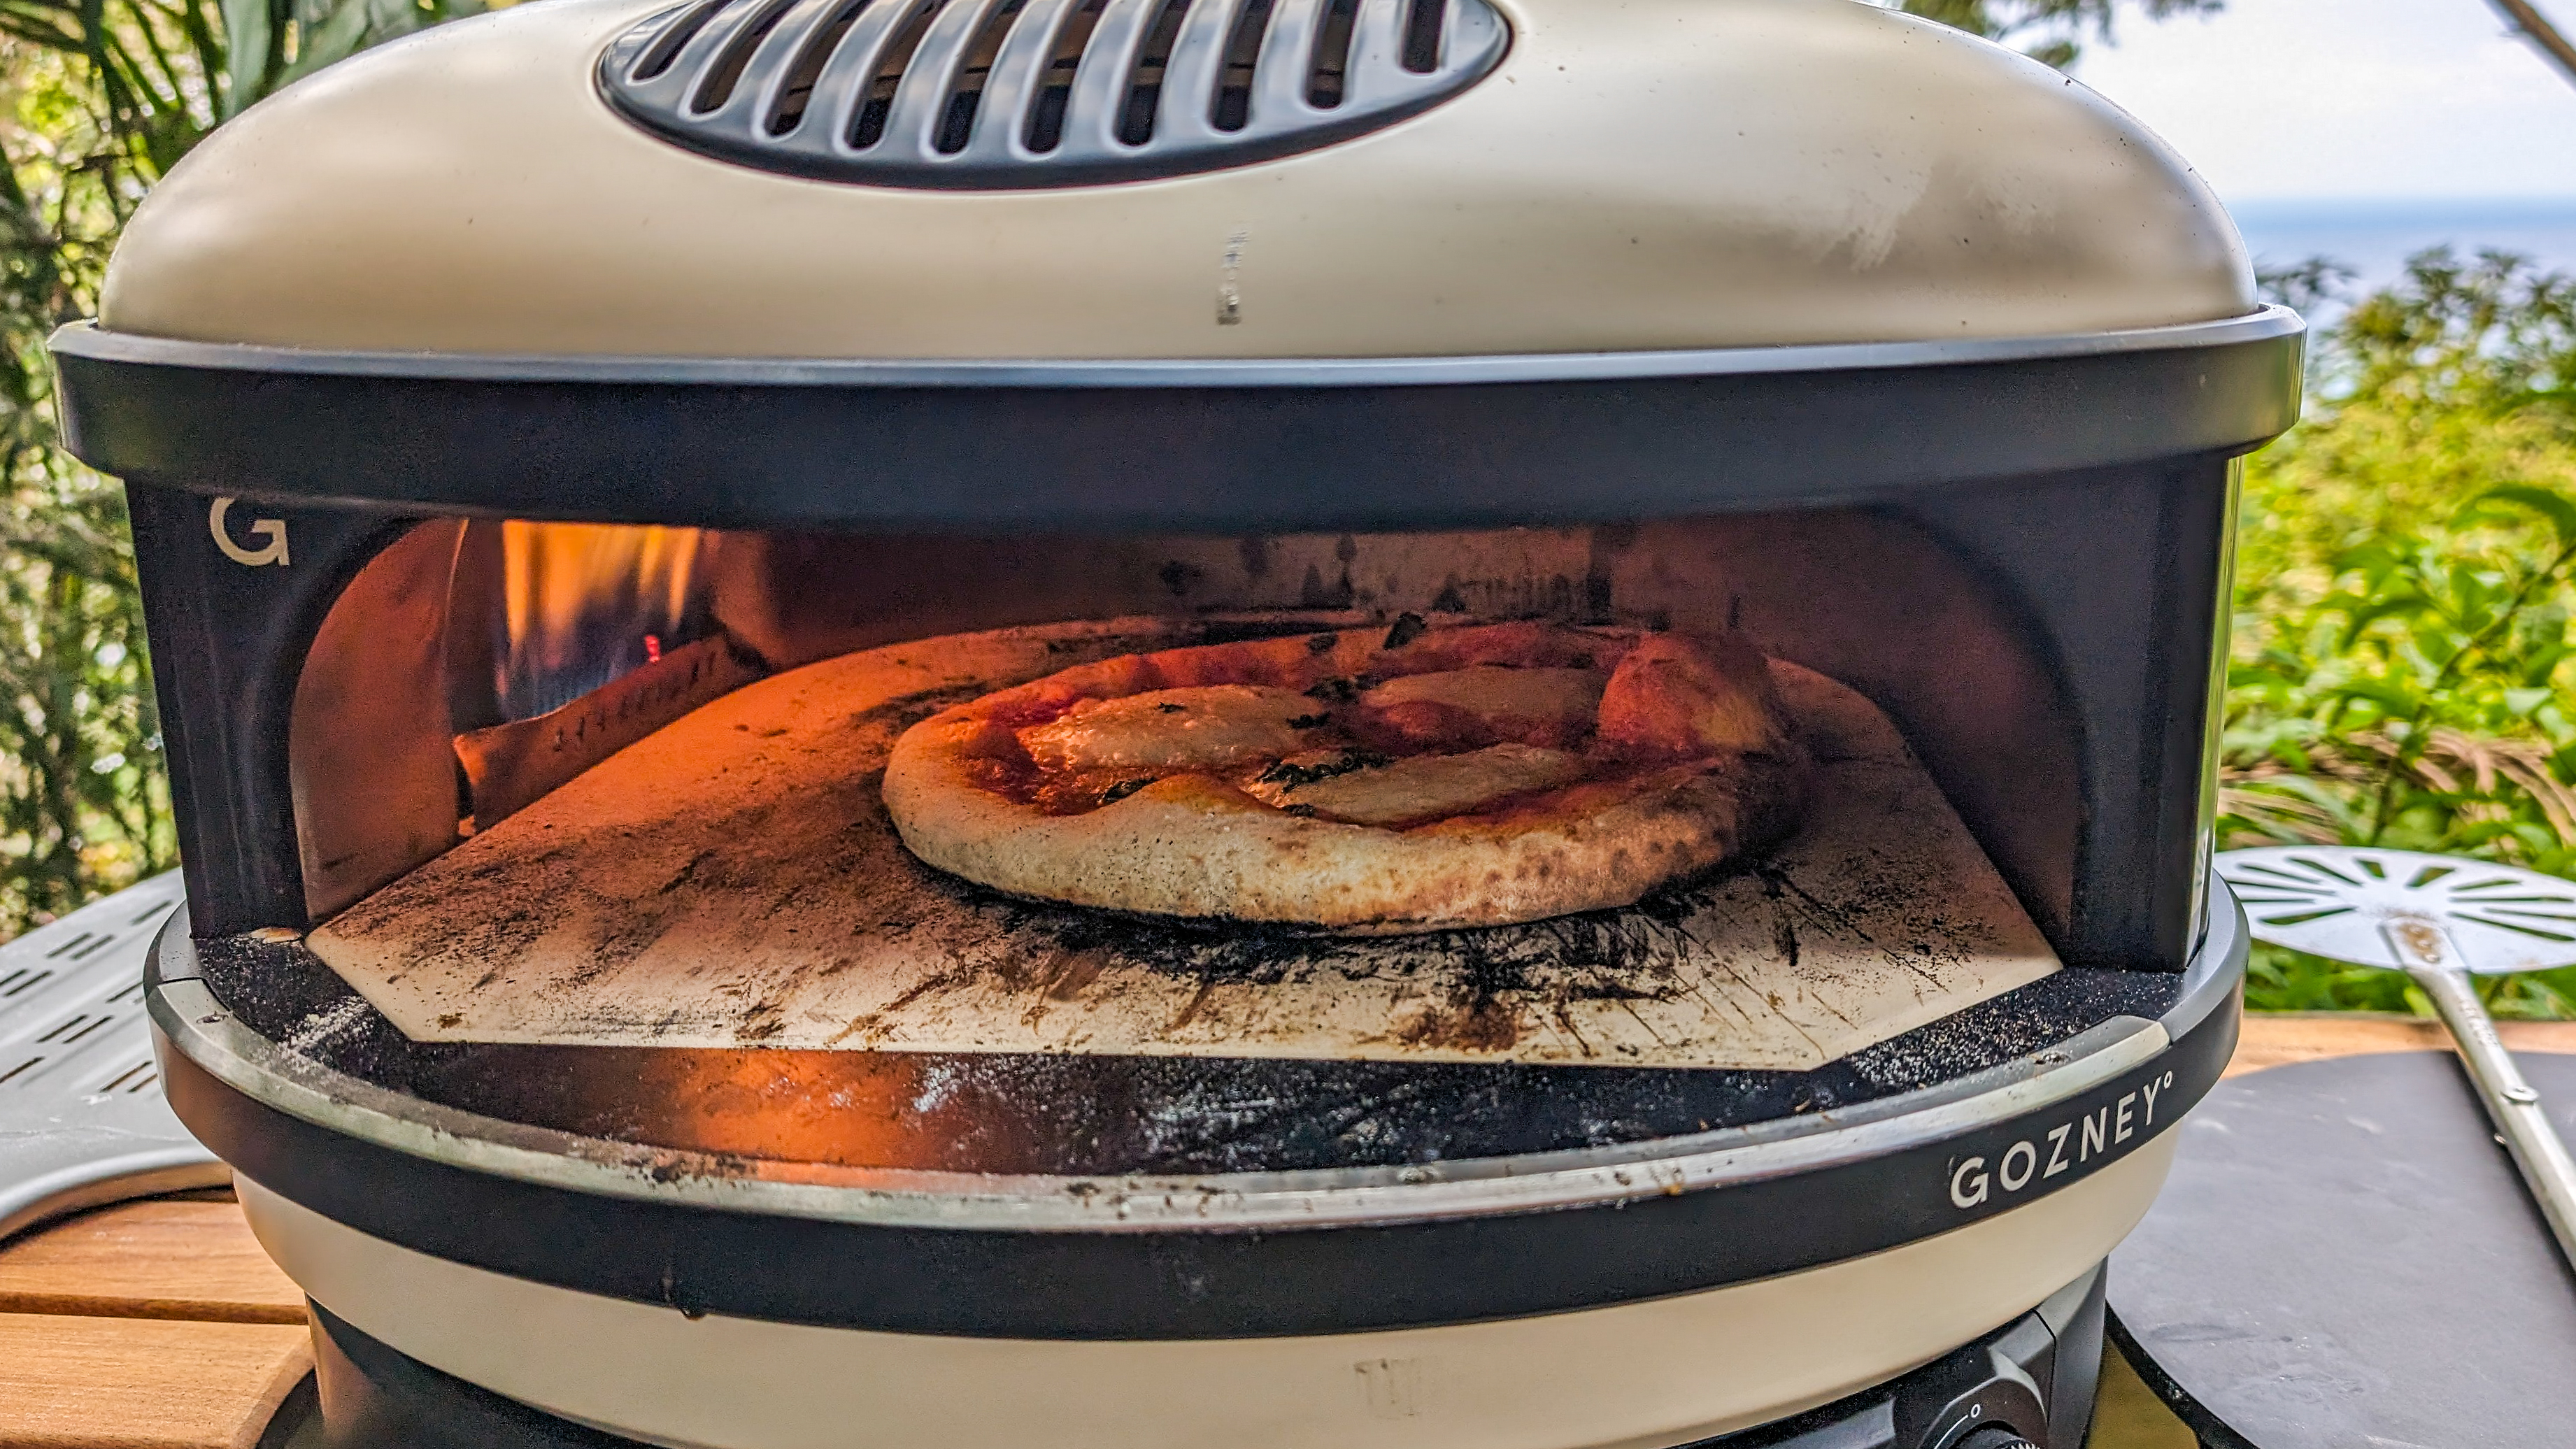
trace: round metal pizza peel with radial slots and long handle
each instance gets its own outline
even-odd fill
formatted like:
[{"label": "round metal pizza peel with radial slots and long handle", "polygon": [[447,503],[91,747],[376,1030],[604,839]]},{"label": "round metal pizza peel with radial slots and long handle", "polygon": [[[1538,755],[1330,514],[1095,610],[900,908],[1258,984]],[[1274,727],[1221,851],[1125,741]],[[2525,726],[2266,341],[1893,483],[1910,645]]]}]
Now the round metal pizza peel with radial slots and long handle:
[{"label": "round metal pizza peel with radial slots and long handle", "polygon": [[2576,1158],[2522,1078],[2470,975],[2576,965],[2576,885],[2458,854],[2372,847],[2228,849],[2254,939],[2380,970],[2432,996],[2522,1181],[2576,1266]]}]

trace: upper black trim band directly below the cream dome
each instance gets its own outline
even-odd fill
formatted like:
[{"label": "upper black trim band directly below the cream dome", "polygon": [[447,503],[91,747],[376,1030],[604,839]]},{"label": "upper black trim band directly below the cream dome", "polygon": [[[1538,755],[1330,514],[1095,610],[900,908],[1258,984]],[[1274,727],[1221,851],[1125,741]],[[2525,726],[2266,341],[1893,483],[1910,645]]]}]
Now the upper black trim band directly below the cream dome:
[{"label": "upper black trim band directly below the cream dome", "polygon": [[[1319,360],[672,360],[54,335],[126,481],[379,512],[868,530],[1383,530],[1682,517],[2236,456],[2300,322]],[[1723,461],[1723,476],[1713,476]]]}]

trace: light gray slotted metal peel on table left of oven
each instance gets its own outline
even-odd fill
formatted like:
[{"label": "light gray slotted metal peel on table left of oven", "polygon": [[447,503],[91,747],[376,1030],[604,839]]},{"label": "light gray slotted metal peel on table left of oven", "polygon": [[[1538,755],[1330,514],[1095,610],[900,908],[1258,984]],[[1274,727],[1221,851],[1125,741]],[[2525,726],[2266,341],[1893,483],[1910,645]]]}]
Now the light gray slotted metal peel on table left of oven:
[{"label": "light gray slotted metal peel on table left of oven", "polygon": [[178,872],[0,945],[0,1238],[46,1217],[232,1181],[170,1104],[144,1024],[144,950]]}]

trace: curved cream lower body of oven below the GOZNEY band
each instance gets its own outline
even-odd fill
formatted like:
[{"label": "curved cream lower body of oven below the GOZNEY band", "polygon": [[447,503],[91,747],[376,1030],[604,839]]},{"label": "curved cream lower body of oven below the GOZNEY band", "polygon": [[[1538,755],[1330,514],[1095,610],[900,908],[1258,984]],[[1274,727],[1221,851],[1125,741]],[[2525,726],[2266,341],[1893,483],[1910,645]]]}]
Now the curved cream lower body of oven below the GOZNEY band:
[{"label": "curved cream lower body of oven below the GOZNEY band", "polygon": [[260,1243],[337,1320],[507,1400],[672,1449],[811,1449],[850,1423],[886,1444],[1664,1449],[1844,1400],[2020,1320],[2143,1217],[2169,1158],[2166,1132],[1999,1217],[1700,1295],[1216,1341],[683,1318],[415,1253],[252,1179],[240,1192]]}]

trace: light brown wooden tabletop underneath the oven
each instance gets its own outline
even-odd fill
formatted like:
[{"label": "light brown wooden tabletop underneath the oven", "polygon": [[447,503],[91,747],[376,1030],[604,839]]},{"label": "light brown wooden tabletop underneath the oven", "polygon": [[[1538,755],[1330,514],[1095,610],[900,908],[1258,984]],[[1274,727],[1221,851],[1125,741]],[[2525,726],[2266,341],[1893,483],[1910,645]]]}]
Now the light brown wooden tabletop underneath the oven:
[{"label": "light brown wooden tabletop underneath the oven", "polygon": [[[2576,1053],[2576,1022],[2506,1022],[2504,1045]],[[2437,1022],[2249,1017],[2228,1076],[2360,1053],[2442,1050]],[[0,1449],[263,1449],[312,1372],[304,1295],[229,1194],[100,1207],[0,1248]],[[265,1439],[278,1449],[278,1439]],[[2110,1354],[2089,1449],[2192,1449]]]}]

